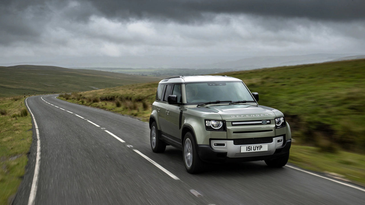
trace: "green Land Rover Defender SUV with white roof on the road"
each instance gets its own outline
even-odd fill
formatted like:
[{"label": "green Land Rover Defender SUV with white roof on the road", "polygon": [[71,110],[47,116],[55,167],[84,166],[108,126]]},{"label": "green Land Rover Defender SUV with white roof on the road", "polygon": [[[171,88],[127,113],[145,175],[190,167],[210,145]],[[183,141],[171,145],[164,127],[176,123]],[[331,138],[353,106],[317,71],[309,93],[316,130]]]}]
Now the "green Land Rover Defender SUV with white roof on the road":
[{"label": "green Land Rover Defender SUV with white roof on the road", "polygon": [[150,116],[153,152],[167,145],[183,151],[189,173],[204,162],[265,160],[271,167],[288,162],[291,131],[282,112],[258,105],[237,78],[179,76],[158,84]]}]

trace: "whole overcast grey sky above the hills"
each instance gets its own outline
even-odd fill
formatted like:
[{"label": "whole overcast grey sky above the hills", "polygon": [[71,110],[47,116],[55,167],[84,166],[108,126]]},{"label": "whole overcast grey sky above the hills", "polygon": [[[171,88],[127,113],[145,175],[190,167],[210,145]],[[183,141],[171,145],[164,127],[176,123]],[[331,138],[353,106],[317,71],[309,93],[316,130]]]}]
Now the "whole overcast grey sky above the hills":
[{"label": "whole overcast grey sky above the hills", "polygon": [[0,63],[365,53],[364,0],[1,0]]}]

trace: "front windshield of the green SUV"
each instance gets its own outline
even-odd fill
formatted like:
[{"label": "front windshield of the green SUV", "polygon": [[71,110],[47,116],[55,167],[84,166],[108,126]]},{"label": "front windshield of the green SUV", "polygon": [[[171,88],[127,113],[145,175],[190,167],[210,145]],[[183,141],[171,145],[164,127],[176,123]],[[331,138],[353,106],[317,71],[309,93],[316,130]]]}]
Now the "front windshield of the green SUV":
[{"label": "front windshield of the green SUV", "polygon": [[254,101],[249,90],[241,81],[194,82],[185,84],[188,104],[210,101]]}]

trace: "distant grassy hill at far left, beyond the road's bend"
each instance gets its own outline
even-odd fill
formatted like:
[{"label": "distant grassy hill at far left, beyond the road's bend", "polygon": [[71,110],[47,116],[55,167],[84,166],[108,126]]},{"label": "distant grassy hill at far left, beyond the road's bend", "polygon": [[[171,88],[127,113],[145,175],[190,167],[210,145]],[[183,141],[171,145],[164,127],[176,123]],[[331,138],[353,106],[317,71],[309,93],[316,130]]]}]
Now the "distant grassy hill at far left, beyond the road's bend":
[{"label": "distant grassy hill at far left, beyond the road's bend", "polygon": [[55,66],[0,66],[0,97],[95,90],[160,79]]}]

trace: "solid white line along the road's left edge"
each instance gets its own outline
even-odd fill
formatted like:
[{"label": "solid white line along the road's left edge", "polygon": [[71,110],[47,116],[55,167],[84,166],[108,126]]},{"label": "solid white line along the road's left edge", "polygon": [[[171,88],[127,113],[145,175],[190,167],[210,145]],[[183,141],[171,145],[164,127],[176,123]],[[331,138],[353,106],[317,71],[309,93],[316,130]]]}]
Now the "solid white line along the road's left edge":
[{"label": "solid white line along the road's left edge", "polygon": [[32,187],[30,189],[29,199],[28,199],[28,205],[34,205],[35,202],[35,195],[37,194],[37,185],[38,185],[38,176],[39,176],[39,164],[41,163],[41,140],[39,139],[39,131],[38,131],[38,125],[37,121],[35,121],[34,115],[32,111],[30,110],[27,99],[25,99],[25,103],[29,109],[30,114],[32,115],[33,121],[34,121],[34,127],[35,132],[37,134],[37,155],[35,158],[35,167],[34,167],[34,175],[33,175],[33,181],[32,181]]}]

